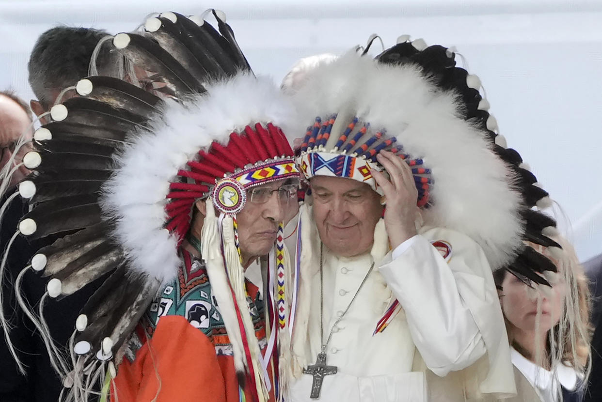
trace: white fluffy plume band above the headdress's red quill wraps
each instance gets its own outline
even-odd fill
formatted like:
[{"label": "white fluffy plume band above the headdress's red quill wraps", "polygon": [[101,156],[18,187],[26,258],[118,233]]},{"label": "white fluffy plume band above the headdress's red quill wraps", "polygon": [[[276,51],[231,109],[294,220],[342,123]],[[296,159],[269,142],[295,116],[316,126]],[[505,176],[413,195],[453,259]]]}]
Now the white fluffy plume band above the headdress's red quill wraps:
[{"label": "white fluffy plume band above the headdress's red quill wraps", "polygon": [[208,93],[179,104],[168,100],[148,131],[135,133],[117,156],[117,169],[103,188],[102,208],[116,221],[113,233],[134,273],[167,282],[181,264],[177,241],[166,229],[169,183],[187,161],[213,141],[228,143],[232,131],[272,122],[282,126],[293,108],[271,79],[240,73],[208,85]]}]

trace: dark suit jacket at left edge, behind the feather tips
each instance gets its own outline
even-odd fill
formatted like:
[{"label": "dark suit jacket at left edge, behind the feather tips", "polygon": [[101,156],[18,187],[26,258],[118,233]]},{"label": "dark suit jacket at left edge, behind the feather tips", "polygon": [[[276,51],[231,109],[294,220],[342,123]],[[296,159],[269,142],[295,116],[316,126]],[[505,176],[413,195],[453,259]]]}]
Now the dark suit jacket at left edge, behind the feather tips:
[{"label": "dark suit jacket at left edge, behind the feather tips", "polygon": [[[1,200],[4,203],[4,199]],[[8,241],[16,232],[17,224],[27,211],[26,204],[17,197],[7,209],[0,227],[0,250],[4,251]],[[1,402],[56,402],[63,388],[61,380],[50,364],[48,353],[37,330],[23,314],[14,298],[14,279],[26,267],[29,259],[40,247],[54,241],[46,239],[29,242],[19,236],[9,250],[1,296],[4,310],[13,324],[10,339],[27,368],[26,376],[17,370],[16,363],[8,351],[4,336],[0,336],[0,401]],[[22,281],[22,292],[26,300],[37,311],[37,304],[46,290],[45,279],[29,269]],[[75,320],[85,301],[99,286],[93,283],[70,297],[56,301],[49,299],[45,306],[45,317],[52,337],[58,345],[67,345],[75,329]]]}]

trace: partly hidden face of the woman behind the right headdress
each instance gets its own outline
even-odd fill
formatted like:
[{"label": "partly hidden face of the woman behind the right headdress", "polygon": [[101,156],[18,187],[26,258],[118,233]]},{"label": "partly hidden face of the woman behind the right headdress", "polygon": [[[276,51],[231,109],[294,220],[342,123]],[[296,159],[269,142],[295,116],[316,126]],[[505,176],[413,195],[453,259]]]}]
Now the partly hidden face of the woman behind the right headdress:
[{"label": "partly hidden face of the woman behind the right headdress", "polygon": [[562,297],[565,285],[556,283],[549,294],[539,297],[541,303],[541,315],[538,317],[537,291],[530,289],[520,279],[510,273],[506,273],[501,283],[503,291],[501,309],[506,319],[518,330],[535,335],[536,322],[539,319],[539,330],[541,333],[548,332],[560,320],[562,314]]}]

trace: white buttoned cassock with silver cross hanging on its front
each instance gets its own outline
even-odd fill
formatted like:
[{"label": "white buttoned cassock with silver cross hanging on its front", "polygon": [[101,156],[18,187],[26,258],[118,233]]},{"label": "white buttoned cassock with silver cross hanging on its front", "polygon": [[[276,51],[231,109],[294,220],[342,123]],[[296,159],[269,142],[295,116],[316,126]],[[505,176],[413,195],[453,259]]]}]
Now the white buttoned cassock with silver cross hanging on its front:
[{"label": "white buttoned cassock with silver cross hanging on its front", "polygon": [[[421,230],[388,252],[382,220],[374,239],[371,253],[353,258],[337,258],[324,247],[322,339],[319,268],[311,273],[306,333],[295,329],[294,336],[306,338],[302,360],[312,365],[334,331],[326,364],[337,366],[338,372],[324,376],[320,400],[451,402],[514,394],[503,316],[480,247],[461,233],[435,228]],[[439,242],[438,248],[433,242]],[[319,267],[319,243],[312,243],[312,264]],[[373,259],[374,270],[333,327]],[[396,299],[403,308],[385,330],[374,333]],[[298,375],[288,400],[310,401],[311,387],[311,375]]]}]

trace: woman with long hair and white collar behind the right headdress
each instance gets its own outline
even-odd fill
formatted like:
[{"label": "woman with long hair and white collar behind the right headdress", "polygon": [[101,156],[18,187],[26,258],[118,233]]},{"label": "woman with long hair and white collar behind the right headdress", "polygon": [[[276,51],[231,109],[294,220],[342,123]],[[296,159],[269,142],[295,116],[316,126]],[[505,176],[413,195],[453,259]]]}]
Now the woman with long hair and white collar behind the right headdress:
[{"label": "woman with long hair and white collar behind the right headdress", "polygon": [[[546,272],[550,286],[537,285],[507,270],[494,273],[512,347],[518,400],[533,391],[542,402],[580,401],[591,364],[589,289],[573,247],[529,243],[554,262]],[[532,388],[532,389],[529,389]]]}]

